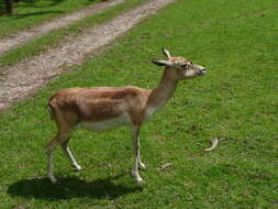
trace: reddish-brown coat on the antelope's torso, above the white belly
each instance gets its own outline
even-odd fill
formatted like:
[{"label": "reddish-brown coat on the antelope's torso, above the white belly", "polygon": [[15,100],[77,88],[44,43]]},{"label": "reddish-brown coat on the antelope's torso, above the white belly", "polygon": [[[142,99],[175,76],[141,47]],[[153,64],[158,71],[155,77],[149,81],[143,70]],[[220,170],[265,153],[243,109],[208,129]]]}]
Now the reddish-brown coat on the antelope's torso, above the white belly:
[{"label": "reddish-brown coat on the antelope's torso, above the white belly", "polygon": [[55,94],[48,106],[54,111],[60,111],[67,121],[73,121],[73,125],[80,122],[100,122],[124,112],[127,112],[135,123],[149,94],[151,90],[134,86],[68,88]]}]

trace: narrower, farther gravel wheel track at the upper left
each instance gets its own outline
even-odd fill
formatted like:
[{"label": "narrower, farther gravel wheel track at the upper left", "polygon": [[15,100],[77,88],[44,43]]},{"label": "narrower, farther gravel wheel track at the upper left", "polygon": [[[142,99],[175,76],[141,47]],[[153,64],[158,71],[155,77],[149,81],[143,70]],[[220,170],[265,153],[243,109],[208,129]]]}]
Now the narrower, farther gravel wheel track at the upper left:
[{"label": "narrower, farther gravel wheel track at the upper left", "polygon": [[22,31],[14,36],[0,40],[0,55],[8,52],[11,48],[14,48],[15,46],[20,44],[26,43],[27,41],[32,38],[42,36],[55,29],[68,26],[76,21],[79,21],[86,16],[89,16],[100,11],[112,8],[122,2],[124,2],[124,0],[109,0],[101,3],[96,3],[92,6],[89,6],[88,8],[73,12],[70,14],[66,14],[60,18],[53,19],[52,21],[48,21],[42,25],[33,26],[31,29]]}]

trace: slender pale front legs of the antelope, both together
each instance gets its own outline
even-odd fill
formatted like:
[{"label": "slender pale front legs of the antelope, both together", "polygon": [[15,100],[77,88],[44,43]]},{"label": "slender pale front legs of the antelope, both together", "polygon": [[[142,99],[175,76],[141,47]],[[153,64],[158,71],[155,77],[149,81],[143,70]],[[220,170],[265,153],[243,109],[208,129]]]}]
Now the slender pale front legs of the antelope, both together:
[{"label": "slender pale front legs of the antelope, both together", "polygon": [[141,162],[140,157],[140,143],[138,143],[140,127],[136,125],[132,127],[131,132],[132,132],[132,146],[134,151],[134,167],[132,170],[132,175],[135,177],[137,184],[143,184],[144,180],[141,178],[138,174],[138,164],[145,167],[145,165]]}]

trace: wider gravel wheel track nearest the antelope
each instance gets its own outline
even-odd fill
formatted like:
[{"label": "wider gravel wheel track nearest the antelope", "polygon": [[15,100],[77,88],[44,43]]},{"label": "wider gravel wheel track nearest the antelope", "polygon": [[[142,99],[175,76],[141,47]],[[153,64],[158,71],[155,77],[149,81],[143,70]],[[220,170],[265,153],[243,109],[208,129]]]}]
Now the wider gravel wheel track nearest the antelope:
[{"label": "wider gravel wheel track nearest the antelope", "polygon": [[0,110],[36,91],[49,78],[63,72],[65,64],[79,65],[96,50],[113,41],[174,0],[152,0],[132,9],[114,20],[87,31],[60,47],[19,63],[0,78]]}]

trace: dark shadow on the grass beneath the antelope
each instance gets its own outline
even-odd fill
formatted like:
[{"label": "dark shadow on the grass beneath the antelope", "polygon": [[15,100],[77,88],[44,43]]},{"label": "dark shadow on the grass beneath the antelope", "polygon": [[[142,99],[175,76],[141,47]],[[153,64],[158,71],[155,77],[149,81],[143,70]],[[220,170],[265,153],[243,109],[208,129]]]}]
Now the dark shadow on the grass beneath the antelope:
[{"label": "dark shadow on the grass beneath the antelope", "polygon": [[8,188],[11,196],[24,198],[38,198],[46,200],[60,200],[76,197],[94,199],[116,199],[125,194],[142,190],[140,186],[123,186],[112,183],[113,178],[99,178],[93,182],[81,180],[75,177],[59,178],[59,184],[53,185],[48,178],[23,179]]}]

